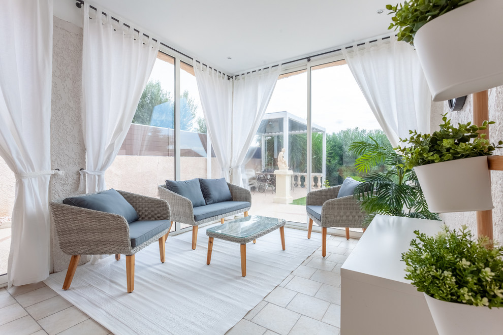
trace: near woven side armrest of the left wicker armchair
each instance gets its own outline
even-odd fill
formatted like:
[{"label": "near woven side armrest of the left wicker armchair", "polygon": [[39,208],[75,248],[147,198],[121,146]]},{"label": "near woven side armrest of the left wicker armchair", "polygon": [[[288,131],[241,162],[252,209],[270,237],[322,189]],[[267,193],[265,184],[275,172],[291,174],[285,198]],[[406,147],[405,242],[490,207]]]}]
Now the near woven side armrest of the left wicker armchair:
[{"label": "near woven side armrest of the left wicker armchair", "polygon": [[68,255],[128,254],[129,224],[124,217],[50,202],[59,247]]}]

